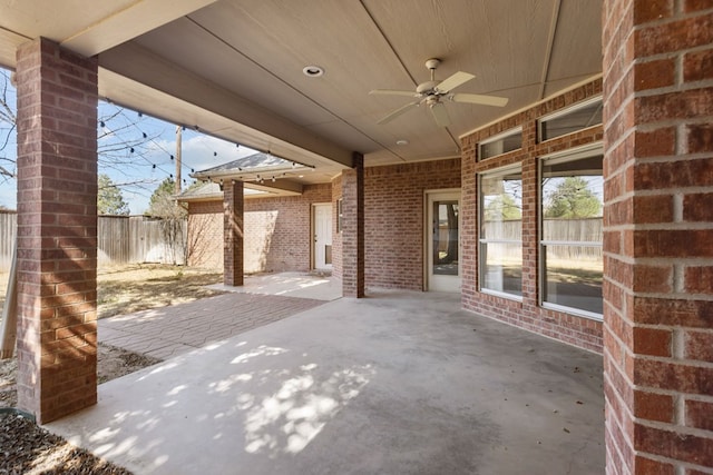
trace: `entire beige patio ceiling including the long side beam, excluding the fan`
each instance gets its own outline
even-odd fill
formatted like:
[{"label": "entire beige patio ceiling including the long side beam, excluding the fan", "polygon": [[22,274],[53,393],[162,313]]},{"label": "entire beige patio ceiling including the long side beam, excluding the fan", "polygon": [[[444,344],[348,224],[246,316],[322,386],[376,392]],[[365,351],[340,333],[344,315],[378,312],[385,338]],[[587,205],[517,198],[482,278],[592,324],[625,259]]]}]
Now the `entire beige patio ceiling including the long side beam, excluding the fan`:
[{"label": "entire beige patio ceiling including the long side beam, excluding the fan", "polygon": [[[318,167],[459,156],[459,136],[602,73],[600,0],[0,0],[0,63],[37,37],[99,56],[100,95]],[[436,72],[507,107],[426,107],[371,89],[416,89]],[[316,65],[324,75],[302,69]],[[397,140],[408,140],[398,146]]]}]

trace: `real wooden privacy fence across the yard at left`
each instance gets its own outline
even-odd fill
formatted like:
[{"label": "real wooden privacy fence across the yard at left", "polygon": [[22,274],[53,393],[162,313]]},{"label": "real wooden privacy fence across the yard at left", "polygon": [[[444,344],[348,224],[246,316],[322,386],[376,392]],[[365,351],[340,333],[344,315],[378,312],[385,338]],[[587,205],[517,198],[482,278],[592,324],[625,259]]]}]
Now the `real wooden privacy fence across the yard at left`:
[{"label": "real wooden privacy fence across the yard at left", "polygon": [[[164,238],[162,219],[146,216],[99,216],[98,264],[185,264],[187,222],[177,229],[175,243]],[[0,271],[8,271],[17,236],[17,214],[0,211]]]}]

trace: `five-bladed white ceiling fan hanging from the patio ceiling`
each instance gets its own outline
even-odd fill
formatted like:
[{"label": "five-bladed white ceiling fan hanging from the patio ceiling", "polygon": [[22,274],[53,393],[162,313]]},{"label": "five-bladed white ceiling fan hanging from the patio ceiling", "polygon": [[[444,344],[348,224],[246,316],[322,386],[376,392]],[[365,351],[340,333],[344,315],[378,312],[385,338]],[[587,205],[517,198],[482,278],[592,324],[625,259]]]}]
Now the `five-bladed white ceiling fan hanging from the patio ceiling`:
[{"label": "five-bladed white ceiling fan hanging from the patio ceiling", "polygon": [[441,60],[436,58],[431,58],[426,61],[426,67],[431,71],[431,80],[421,82],[416,88],[416,91],[402,91],[393,89],[374,89],[370,91],[370,95],[408,96],[417,98],[414,101],[409,102],[406,106],[402,106],[393,112],[389,113],[377,123],[388,123],[402,113],[408,112],[409,110],[411,110],[411,108],[424,103],[431,110],[436,123],[439,127],[448,127],[451,122],[450,117],[448,116],[448,111],[446,110],[446,106],[442,102],[443,100],[495,107],[504,107],[506,103],[508,103],[508,99],[502,97],[451,92],[457,87],[475,78],[475,76],[469,72],[458,71],[448,79],[445,79],[442,81],[436,80],[436,68],[438,68],[438,65],[440,65],[440,62]]}]

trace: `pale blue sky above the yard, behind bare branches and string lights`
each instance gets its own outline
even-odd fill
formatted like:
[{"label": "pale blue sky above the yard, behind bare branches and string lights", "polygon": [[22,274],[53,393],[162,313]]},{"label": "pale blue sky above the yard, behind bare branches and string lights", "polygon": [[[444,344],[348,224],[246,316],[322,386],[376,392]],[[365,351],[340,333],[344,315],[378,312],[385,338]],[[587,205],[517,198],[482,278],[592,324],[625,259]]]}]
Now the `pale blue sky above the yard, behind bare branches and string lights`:
[{"label": "pale blue sky above the yard, behind bare branches and string lights", "polygon": [[[13,106],[14,90],[9,81],[8,86],[8,102]],[[156,187],[176,174],[176,126],[104,101],[99,102],[98,116],[99,174],[107,174],[119,186],[130,214],[140,215],[148,208],[148,200]],[[10,130],[7,123],[0,123],[0,147],[4,144],[0,149],[0,167],[14,169],[16,130]],[[188,176],[193,171],[252,154],[255,150],[188,128],[182,129],[183,188],[193,182]],[[2,175],[0,206],[17,209],[17,182]]]}]

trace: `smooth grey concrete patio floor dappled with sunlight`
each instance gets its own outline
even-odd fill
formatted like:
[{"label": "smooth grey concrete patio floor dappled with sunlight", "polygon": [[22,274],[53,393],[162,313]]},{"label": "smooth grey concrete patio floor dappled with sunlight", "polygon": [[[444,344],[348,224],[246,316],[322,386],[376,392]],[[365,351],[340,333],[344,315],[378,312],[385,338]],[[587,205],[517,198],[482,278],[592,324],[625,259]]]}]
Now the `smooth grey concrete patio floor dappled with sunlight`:
[{"label": "smooth grey concrete patio floor dappled with sunlight", "polygon": [[46,427],[136,474],[602,474],[602,358],[459,295],[372,290],[102,384]]}]

